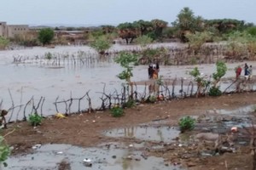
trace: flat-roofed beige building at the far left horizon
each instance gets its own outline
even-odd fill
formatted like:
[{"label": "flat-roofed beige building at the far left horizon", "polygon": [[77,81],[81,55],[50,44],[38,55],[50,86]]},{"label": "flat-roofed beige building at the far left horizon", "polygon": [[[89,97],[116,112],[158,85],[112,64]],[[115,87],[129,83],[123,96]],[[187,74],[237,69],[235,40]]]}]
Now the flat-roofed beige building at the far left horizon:
[{"label": "flat-roofed beige building at the far left horizon", "polygon": [[7,25],[6,22],[0,22],[1,37],[15,37],[26,34],[28,31],[28,25]]}]

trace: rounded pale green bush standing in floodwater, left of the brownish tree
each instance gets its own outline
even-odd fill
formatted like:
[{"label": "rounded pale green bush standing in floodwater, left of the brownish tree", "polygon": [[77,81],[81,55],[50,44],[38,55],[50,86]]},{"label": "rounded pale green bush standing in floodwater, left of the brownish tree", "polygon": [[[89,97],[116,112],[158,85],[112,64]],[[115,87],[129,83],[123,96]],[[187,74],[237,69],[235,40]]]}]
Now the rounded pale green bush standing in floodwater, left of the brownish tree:
[{"label": "rounded pale green bush standing in floodwater, left of the brownish tree", "polygon": [[107,37],[98,37],[95,41],[90,42],[90,47],[95,48],[98,53],[105,53],[105,50],[111,47],[111,42]]}]

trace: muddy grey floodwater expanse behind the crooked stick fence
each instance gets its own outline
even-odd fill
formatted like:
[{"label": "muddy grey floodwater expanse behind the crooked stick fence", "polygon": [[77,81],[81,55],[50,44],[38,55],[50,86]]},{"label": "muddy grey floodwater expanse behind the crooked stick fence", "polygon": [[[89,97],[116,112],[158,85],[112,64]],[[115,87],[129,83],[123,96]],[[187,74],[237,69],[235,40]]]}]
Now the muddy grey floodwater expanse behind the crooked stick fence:
[{"label": "muddy grey floodwater expanse behind the crooked stick fence", "polygon": [[[177,47],[179,43],[164,43],[154,44],[156,46]],[[123,49],[138,49],[137,46],[121,46],[114,45],[110,51],[119,51]],[[34,65],[34,64],[12,64],[13,56],[22,55],[24,57],[34,57],[35,55],[42,56],[47,52],[52,54],[76,54],[78,51],[84,51],[90,56],[95,56],[96,53],[91,48],[86,46],[78,47],[56,47],[56,48],[26,48],[20,50],[0,51],[0,99],[3,99],[3,108],[10,108],[11,98],[9,90],[15,105],[25,105],[26,102],[34,96],[37,102],[41,96],[45,97],[43,113],[44,115],[55,114],[55,106],[53,102],[57,96],[59,100],[79,98],[90,90],[90,98],[92,106],[97,108],[100,105],[99,97],[106,84],[107,93],[113,92],[114,89],[119,90],[122,81],[116,75],[122,71],[119,65],[108,60],[97,60],[95,65],[65,65],[59,68],[53,68],[49,65]],[[243,63],[240,63],[241,65]],[[250,63],[249,65],[256,63]],[[234,68],[238,64],[229,64],[229,71],[226,77],[234,77]],[[204,75],[211,75],[215,71],[215,65],[197,65]],[[183,66],[163,66],[160,65],[160,76],[164,79],[185,77],[192,79],[189,76],[195,65]],[[148,80],[148,65],[139,65],[134,68],[134,77],[132,81]],[[143,87],[138,87],[138,90],[143,91]],[[178,90],[178,89],[177,89]],[[22,92],[22,93],[21,93]],[[22,96],[22,98],[21,98]],[[21,101],[20,101],[21,100]],[[31,105],[28,105],[28,108]],[[73,103],[72,111],[77,111],[77,104]],[[88,108],[86,99],[82,101],[82,109]],[[61,112],[65,111],[65,105],[60,105]]]}]

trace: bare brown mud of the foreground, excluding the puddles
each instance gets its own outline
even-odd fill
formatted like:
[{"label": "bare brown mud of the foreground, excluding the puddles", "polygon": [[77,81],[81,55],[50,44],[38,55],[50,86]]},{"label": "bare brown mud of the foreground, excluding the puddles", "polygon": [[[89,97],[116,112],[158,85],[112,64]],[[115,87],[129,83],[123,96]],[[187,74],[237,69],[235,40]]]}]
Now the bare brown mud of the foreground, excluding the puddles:
[{"label": "bare brown mud of the foreground, excluding the puddles", "polygon": [[[176,127],[182,116],[218,116],[217,110],[232,111],[239,107],[254,105],[256,93],[229,94],[220,97],[175,99],[160,101],[156,104],[141,104],[126,109],[125,116],[115,118],[109,111],[67,116],[65,119],[47,117],[39,127],[32,127],[28,122],[17,122],[8,125],[3,133],[11,132],[6,139],[14,147],[13,155],[29,153],[34,144],[73,144],[83,147],[96,146],[108,142],[138,142],[134,138],[111,138],[104,131],[132,127],[141,123],[165,120],[170,127]],[[207,112],[211,110],[212,112]],[[242,130],[239,128],[239,130]],[[191,131],[189,133],[195,133]],[[171,144],[172,143],[172,144]],[[173,144],[174,143],[174,144]],[[176,144],[175,144],[176,143]],[[154,142],[151,143],[153,145]],[[247,144],[235,144],[236,152],[225,152],[219,156],[196,155],[196,145],[178,146],[177,140],[162,144],[159,150],[150,148],[143,150],[147,156],[160,156],[166,164],[177,165],[189,169],[251,169],[252,159]],[[206,146],[205,150],[211,150]]]}]

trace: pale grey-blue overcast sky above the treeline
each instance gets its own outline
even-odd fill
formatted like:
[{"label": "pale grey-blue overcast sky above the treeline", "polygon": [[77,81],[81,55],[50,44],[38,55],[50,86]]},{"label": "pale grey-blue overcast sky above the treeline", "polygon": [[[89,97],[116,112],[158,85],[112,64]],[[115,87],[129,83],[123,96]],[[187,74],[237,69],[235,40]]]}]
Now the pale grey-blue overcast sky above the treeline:
[{"label": "pale grey-blue overcast sky above the treeline", "polygon": [[171,25],[184,7],[204,19],[256,24],[256,0],[0,0],[0,21],[30,26],[117,26],[160,19]]}]

